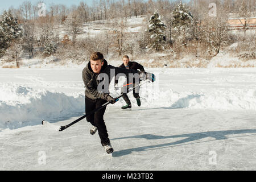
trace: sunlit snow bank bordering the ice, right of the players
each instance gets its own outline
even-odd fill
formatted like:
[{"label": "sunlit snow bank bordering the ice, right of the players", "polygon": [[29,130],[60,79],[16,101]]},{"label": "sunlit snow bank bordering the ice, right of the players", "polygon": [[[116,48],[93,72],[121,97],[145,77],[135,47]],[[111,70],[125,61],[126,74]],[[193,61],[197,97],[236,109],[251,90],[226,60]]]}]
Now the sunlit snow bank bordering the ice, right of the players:
[{"label": "sunlit snow bank bordering the ice, right of the players", "polygon": [[[153,87],[153,89],[150,89],[150,87]],[[177,92],[171,88],[166,91],[162,91],[162,89],[158,91],[158,89],[154,88],[152,84],[148,84],[146,88],[145,86],[141,88],[140,96],[143,107],[256,110],[256,89],[216,88],[213,90],[201,90],[200,92]],[[133,93],[128,93],[128,96],[132,105],[137,107]],[[121,106],[124,104],[125,102],[121,99],[121,102],[116,105]]]}]

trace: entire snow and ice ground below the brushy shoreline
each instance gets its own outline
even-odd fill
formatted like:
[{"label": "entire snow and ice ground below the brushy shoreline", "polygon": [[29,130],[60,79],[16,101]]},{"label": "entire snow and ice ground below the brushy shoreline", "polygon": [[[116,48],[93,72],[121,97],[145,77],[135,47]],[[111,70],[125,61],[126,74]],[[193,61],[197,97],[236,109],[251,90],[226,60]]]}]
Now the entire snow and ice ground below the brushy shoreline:
[{"label": "entire snow and ice ground below the brushy shoreline", "polygon": [[106,109],[107,155],[85,120],[40,125],[84,114],[83,67],[0,69],[0,170],[256,169],[256,68],[146,68],[142,106]]}]

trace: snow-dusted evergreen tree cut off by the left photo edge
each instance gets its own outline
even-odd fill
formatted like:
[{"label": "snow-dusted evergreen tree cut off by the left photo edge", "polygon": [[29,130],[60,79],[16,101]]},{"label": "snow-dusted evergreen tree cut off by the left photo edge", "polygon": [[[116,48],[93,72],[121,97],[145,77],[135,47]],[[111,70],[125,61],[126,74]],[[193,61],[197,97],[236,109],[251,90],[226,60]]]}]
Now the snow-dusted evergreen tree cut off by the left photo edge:
[{"label": "snow-dusted evergreen tree cut off by the left photo edge", "polygon": [[11,12],[5,11],[0,20],[0,57],[10,47],[11,42],[22,36],[22,28]]}]

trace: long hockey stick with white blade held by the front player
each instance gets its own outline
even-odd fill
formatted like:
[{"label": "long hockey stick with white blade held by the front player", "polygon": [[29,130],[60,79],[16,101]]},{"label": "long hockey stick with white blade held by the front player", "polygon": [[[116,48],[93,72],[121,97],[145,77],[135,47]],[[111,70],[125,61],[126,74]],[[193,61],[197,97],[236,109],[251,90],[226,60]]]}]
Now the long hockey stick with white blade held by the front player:
[{"label": "long hockey stick with white blade held by the front player", "polygon": [[[131,92],[132,90],[134,90],[134,89],[137,88],[138,86],[141,86],[141,85],[143,85],[143,84],[146,84],[146,82],[150,82],[150,81],[148,80],[148,81],[142,82],[142,83],[140,83],[140,84],[138,84],[138,85],[136,85],[136,86],[134,86],[134,87],[132,87],[132,88],[129,88],[129,89],[127,90],[127,93]],[[119,98],[123,96],[123,94],[125,94],[125,93],[121,93],[118,97],[115,97],[115,98],[114,98],[114,99],[115,99],[115,102],[117,102],[117,101],[119,100]],[[102,106],[100,106],[100,107],[98,107],[98,108],[96,108],[96,109],[90,111],[89,113],[83,115],[82,117],[76,119],[76,120],[73,121],[72,123],[69,123],[68,125],[65,125],[65,126],[56,126],[56,125],[52,125],[52,123],[49,123],[49,122],[47,122],[47,121],[45,121],[45,120],[42,121],[42,125],[47,126],[47,127],[51,128],[51,129],[53,129],[53,130],[63,131],[63,130],[65,130],[65,129],[67,129],[69,126],[72,126],[72,125],[74,125],[75,123],[81,121],[82,119],[88,117],[88,115],[95,113],[96,111],[102,109],[103,107],[106,107],[106,106],[107,106],[108,104],[110,104],[110,103],[111,103],[111,101],[106,102],[106,103],[103,104]]]}]

